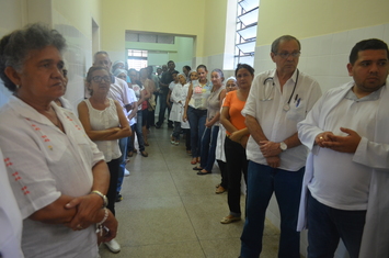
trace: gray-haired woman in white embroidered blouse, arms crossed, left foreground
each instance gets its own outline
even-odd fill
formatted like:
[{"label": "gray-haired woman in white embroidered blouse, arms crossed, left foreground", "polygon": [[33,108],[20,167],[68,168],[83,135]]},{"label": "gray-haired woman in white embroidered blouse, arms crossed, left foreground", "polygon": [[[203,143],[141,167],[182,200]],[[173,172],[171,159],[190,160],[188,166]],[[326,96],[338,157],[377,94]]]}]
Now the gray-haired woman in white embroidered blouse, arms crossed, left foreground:
[{"label": "gray-haired woman in white embroidered blouse, arms crossed, left foreground", "polygon": [[104,207],[110,180],[104,156],[78,117],[54,102],[65,90],[65,47],[57,31],[41,24],[0,41],[0,78],[13,92],[0,109],[0,147],[27,258],[96,258],[96,231],[108,242],[117,229]]}]

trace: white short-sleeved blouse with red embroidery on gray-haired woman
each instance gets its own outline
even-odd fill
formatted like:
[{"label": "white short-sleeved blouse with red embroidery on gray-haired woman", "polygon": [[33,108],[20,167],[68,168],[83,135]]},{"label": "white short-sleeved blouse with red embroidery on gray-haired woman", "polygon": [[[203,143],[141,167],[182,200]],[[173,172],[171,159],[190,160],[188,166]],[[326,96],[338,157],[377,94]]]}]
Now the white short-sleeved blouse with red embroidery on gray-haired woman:
[{"label": "white short-sleeved blouse with red embroidery on gray-haired woman", "polygon": [[73,232],[65,225],[28,218],[61,194],[81,197],[92,190],[92,167],[103,154],[81,122],[52,102],[65,133],[46,116],[10,97],[0,109],[0,147],[23,221],[25,257],[98,257],[94,226]]}]

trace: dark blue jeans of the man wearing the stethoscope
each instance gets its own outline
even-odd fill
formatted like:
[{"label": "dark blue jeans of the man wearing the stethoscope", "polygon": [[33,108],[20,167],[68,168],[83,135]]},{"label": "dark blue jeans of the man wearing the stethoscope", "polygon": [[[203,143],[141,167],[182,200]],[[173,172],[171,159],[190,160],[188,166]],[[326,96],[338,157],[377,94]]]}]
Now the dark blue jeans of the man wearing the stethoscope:
[{"label": "dark blue jeans of the man wearing the stethoscope", "polygon": [[300,233],[296,231],[305,167],[287,171],[249,161],[247,218],[241,236],[242,258],[262,251],[265,214],[273,192],[281,213],[278,257],[300,257]]}]

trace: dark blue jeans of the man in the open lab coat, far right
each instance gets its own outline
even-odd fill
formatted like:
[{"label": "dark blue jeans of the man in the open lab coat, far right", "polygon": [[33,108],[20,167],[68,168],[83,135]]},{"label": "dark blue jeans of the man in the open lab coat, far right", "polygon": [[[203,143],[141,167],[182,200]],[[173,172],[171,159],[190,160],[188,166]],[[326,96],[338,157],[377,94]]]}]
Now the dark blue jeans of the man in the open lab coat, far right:
[{"label": "dark blue jeans of the man in the open lab coat, far right", "polygon": [[343,211],[308,197],[308,258],[333,257],[342,238],[351,258],[357,258],[366,211]]}]

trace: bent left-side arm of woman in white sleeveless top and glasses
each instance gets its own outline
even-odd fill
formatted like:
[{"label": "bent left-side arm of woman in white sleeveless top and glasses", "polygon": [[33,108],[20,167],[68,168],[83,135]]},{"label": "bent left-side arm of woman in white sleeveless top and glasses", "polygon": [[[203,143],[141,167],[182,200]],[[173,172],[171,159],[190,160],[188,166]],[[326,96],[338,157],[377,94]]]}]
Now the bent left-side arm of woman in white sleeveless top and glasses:
[{"label": "bent left-side arm of woman in white sleeveless top and glasses", "polygon": [[94,131],[94,130],[92,130],[92,126],[91,126],[91,123],[89,120],[89,111],[88,111],[87,103],[84,101],[81,101],[78,104],[77,110],[79,113],[79,120],[81,121],[87,135],[92,141],[104,141],[108,136],[115,134],[119,130],[118,127],[113,127],[113,128]]}]

